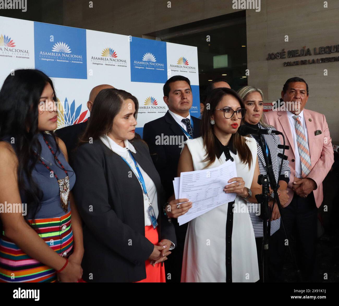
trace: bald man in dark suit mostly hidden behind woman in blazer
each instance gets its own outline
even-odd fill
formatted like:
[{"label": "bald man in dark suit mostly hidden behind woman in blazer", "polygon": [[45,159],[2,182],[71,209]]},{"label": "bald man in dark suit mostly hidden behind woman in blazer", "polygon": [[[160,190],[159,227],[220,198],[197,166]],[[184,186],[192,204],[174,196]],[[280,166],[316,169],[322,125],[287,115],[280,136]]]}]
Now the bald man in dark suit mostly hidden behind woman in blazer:
[{"label": "bald man in dark suit mostly hidden behind woman in blazer", "polygon": [[[91,93],[89,93],[89,99],[87,101],[87,108],[90,113],[91,113],[93,102],[96,96],[102,89],[106,89],[106,88],[114,88],[114,87],[111,85],[102,84],[102,85],[98,85],[94,87],[91,90]],[[79,142],[79,137],[85,131],[86,126],[87,126],[87,121],[81,122],[78,124],[69,125],[69,126],[63,127],[55,131],[57,136],[61,138],[61,140],[65,143],[66,148],[67,148],[67,154],[68,154],[70,161],[72,161],[72,158],[71,158],[72,152],[76,148]]]}]

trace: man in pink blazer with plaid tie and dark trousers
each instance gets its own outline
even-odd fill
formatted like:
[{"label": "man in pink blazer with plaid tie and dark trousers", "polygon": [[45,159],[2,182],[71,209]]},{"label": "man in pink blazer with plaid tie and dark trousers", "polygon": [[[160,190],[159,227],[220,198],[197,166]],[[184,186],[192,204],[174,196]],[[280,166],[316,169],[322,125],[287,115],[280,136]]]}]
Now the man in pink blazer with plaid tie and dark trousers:
[{"label": "man in pink blazer with plaid tie and dark trousers", "polygon": [[317,208],[323,200],[322,181],[332,167],[334,152],[325,116],[305,109],[305,80],[288,79],[281,97],[284,103],[267,112],[265,121],[281,131],[290,146],[285,151],[291,168],[287,186],[290,198],[283,206],[283,219],[287,233],[296,242],[303,281],[316,281]]}]

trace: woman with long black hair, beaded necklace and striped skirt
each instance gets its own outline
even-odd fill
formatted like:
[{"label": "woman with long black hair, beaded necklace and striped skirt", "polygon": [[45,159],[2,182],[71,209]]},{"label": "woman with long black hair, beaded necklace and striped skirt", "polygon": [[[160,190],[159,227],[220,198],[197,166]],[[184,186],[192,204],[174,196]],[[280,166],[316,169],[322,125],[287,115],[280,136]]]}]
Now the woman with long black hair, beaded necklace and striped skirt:
[{"label": "woman with long black hair, beaded necklace and striped skirt", "polygon": [[0,91],[0,203],[6,206],[0,282],[77,282],[82,276],[75,174],[53,133],[56,103],[52,80],[39,70],[14,71]]}]

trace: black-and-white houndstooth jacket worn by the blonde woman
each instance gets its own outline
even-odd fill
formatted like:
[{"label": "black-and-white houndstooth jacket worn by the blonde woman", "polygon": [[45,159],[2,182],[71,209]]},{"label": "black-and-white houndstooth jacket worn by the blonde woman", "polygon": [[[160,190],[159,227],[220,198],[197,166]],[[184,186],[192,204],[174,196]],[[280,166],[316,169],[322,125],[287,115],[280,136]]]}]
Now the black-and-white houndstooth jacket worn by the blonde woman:
[{"label": "black-and-white houndstooth jacket worn by the blonde woman", "polygon": [[[275,130],[274,127],[268,126],[264,127],[260,123],[258,124],[258,127],[261,129],[269,129],[269,130]],[[250,135],[252,138],[254,138],[252,135]],[[281,164],[281,158],[278,157],[278,153],[282,154],[282,149],[278,149],[278,145],[280,143],[280,138],[278,135],[271,134],[271,135],[263,135],[265,142],[268,146],[268,149],[270,150],[270,155],[271,155],[271,160],[272,160],[272,168],[273,172],[275,175],[275,179],[278,182],[282,177],[286,178],[289,180],[290,175],[291,175],[291,169],[290,166],[288,166],[288,160],[284,160],[282,163],[282,168],[281,168],[281,176],[279,179],[279,168]],[[259,163],[259,171],[260,174],[266,175],[266,170],[265,170],[265,160],[264,160],[264,155],[261,150],[260,145],[257,142],[257,148],[258,148],[258,163]],[[256,180],[257,178],[253,178]],[[275,203],[277,205],[277,203]],[[263,236],[263,220],[257,216],[258,212],[258,203],[247,203],[247,206],[249,206],[250,210],[250,217],[252,221],[252,226],[254,230],[254,235],[255,237],[262,237]],[[271,221],[271,236],[280,228],[280,218],[277,220]]]}]

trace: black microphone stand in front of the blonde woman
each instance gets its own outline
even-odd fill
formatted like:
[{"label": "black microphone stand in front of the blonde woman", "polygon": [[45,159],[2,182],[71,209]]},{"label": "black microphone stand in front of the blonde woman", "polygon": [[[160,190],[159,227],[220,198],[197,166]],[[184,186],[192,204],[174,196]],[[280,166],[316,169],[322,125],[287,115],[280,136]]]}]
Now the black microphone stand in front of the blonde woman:
[{"label": "black microphone stand in front of the blonde woman", "polygon": [[[287,156],[284,155],[285,153],[285,149],[288,149],[288,146],[285,146],[285,137],[284,135],[282,135],[283,140],[284,140],[284,144],[278,146],[278,148],[283,149],[283,153],[282,154],[278,154],[278,156],[281,158],[281,165],[280,165],[280,169],[279,169],[279,176],[281,173],[281,168],[282,168],[282,163],[284,159],[287,159]],[[297,276],[299,278],[299,281],[301,281],[301,276],[300,276],[300,270],[297,266],[295,257],[291,251],[290,248],[290,244],[289,244],[289,237],[285,231],[285,227],[284,227],[284,223],[283,223],[283,217],[282,217],[282,209],[281,209],[281,204],[280,204],[280,200],[279,200],[279,196],[278,196],[278,188],[279,188],[279,184],[277,184],[277,181],[275,179],[275,175],[273,172],[273,168],[272,168],[272,164],[270,163],[270,161],[268,160],[268,156],[266,155],[266,145],[265,145],[265,141],[263,139],[262,134],[258,135],[258,143],[261,147],[263,156],[264,156],[264,160],[265,160],[265,170],[266,170],[266,175],[259,175],[258,177],[258,183],[260,185],[262,185],[262,194],[256,195],[256,199],[258,200],[258,203],[260,206],[260,218],[263,219],[263,256],[262,256],[262,265],[263,265],[263,282],[267,282],[268,281],[268,237],[271,234],[271,222],[268,223],[268,234],[266,234],[267,232],[267,221],[270,221],[271,218],[271,214],[274,208],[274,204],[275,201],[277,201],[277,205],[278,205],[278,209],[279,209],[279,213],[280,213],[280,220],[282,223],[282,226],[284,228],[284,232],[285,232],[285,236],[286,239],[288,241],[288,247],[290,249],[290,253],[295,265],[295,269],[297,272]],[[267,147],[268,150],[270,150]],[[269,186],[268,184],[271,185],[271,188],[274,192],[274,201],[273,201],[273,205],[272,205],[272,209],[271,209],[271,213],[270,213],[270,209],[268,208],[268,193],[269,193]]]}]

